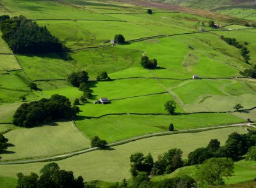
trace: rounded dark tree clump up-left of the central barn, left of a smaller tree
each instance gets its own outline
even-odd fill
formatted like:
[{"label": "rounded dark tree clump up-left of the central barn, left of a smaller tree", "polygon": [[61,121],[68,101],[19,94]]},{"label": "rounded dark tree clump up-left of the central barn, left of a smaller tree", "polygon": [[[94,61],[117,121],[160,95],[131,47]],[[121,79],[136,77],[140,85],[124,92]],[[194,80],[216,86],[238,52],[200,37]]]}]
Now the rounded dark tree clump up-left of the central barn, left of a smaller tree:
[{"label": "rounded dark tree clump up-left of the central barn, left of a smaller tree", "polygon": [[68,75],[67,81],[70,82],[75,87],[79,87],[81,83],[86,83],[89,79],[88,73],[86,71],[73,72]]}]

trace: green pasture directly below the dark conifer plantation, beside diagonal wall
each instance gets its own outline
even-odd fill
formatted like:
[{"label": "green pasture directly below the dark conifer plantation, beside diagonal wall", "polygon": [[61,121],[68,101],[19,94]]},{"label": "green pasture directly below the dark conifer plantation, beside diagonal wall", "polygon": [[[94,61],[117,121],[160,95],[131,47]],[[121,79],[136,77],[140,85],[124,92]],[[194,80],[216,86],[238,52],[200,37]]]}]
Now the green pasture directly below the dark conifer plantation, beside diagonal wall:
[{"label": "green pasture directly below the dark conifer plantation, beside diagonal wall", "polygon": [[[66,79],[74,65],[63,61],[57,54],[17,55],[30,80]],[[40,72],[40,74],[38,74]]]}]

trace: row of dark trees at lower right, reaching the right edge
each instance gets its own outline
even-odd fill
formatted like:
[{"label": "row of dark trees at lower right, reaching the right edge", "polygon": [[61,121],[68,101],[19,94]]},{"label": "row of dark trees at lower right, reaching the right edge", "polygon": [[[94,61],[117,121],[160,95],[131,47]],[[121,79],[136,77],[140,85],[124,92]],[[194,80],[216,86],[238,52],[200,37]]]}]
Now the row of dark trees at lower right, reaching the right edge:
[{"label": "row of dark trees at lower right, reaching the right edge", "polygon": [[188,163],[202,164],[205,160],[212,157],[228,157],[234,160],[246,154],[250,147],[256,144],[256,131],[249,131],[248,134],[232,133],[224,146],[220,146],[220,141],[213,139],[205,148],[197,148],[189,153]]}]

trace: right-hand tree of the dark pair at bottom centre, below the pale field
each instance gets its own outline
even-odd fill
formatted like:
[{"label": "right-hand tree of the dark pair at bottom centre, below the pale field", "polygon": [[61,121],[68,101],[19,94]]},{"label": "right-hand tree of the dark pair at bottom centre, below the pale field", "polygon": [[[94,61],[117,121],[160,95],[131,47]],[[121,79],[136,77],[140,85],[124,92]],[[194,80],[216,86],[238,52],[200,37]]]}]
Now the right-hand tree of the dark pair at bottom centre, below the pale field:
[{"label": "right-hand tree of the dark pair at bottom centre, below the pale field", "polygon": [[154,166],[154,170],[157,172],[156,174],[172,173],[172,171],[180,168],[182,166],[181,155],[182,150],[179,148],[173,148],[168,150],[168,152],[159,155],[156,165]]}]

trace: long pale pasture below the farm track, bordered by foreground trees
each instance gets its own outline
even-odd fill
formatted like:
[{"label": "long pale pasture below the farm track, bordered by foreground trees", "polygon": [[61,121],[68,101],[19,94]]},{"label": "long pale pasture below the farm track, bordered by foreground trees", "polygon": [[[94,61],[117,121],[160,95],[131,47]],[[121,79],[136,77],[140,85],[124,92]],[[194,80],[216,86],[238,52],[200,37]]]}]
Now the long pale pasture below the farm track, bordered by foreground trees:
[{"label": "long pale pasture below the farm track, bordered by foreground trees", "polygon": [[[201,133],[157,136],[116,146],[113,147],[113,150],[97,150],[76,155],[56,161],[56,163],[60,165],[61,169],[72,170],[76,177],[82,175],[86,180],[121,181],[130,177],[129,156],[135,152],[143,152],[144,154],[151,152],[156,159],[157,155],[176,147],[183,150],[183,157],[186,158],[189,152],[198,147],[205,147],[213,138],[218,138],[221,144],[225,143],[228,134],[234,131],[245,133],[239,127],[230,127]],[[1,165],[0,176],[15,177],[17,172],[29,174],[34,171],[38,173],[45,164],[47,163]]]}]

